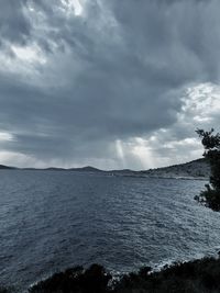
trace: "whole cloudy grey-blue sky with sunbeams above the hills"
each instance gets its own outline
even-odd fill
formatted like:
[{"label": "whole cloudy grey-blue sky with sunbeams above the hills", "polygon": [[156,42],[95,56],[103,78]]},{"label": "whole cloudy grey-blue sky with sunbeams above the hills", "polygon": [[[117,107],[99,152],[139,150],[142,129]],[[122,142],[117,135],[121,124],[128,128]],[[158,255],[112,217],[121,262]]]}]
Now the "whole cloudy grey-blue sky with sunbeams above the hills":
[{"label": "whole cloudy grey-blue sky with sunbeams above the hills", "polygon": [[219,0],[0,3],[0,164],[148,169],[220,131]]}]

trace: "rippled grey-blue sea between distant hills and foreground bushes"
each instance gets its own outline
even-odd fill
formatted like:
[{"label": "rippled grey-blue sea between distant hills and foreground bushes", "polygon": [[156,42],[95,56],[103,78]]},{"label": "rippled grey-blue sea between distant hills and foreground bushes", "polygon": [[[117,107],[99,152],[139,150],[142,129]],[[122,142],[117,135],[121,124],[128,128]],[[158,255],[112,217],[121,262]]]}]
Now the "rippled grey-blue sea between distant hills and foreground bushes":
[{"label": "rippled grey-blue sea between distant hills and foreground bushes", "polygon": [[0,171],[0,283],[26,289],[76,264],[113,272],[212,255],[220,215],[206,181]]}]

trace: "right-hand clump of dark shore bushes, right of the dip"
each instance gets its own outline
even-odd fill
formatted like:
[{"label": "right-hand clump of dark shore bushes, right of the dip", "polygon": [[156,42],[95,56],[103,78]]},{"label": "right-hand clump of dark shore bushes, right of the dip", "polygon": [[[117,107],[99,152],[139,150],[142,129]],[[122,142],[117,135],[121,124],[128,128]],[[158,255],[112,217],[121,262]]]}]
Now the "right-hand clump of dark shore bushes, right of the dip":
[{"label": "right-hand clump of dark shore bushes, right of the dip", "polygon": [[143,277],[124,275],[113,293],[209,293],[220,292],[220,260],[205,258],[175,263]]}]

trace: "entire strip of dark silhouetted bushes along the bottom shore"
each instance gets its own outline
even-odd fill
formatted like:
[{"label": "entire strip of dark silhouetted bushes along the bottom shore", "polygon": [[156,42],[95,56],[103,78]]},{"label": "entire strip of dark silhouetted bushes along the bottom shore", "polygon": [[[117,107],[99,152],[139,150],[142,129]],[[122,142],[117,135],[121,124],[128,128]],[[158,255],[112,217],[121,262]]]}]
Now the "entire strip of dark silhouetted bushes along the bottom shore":
[{"label": "entire strip of dark silhouetted bushes along the bottom shore", "polygon": [[142,268],[114,281],[99,264],[75,267],[32,286],[30,293],[217,293],[220,258],[204,258],[164,267],[160,272]]}]

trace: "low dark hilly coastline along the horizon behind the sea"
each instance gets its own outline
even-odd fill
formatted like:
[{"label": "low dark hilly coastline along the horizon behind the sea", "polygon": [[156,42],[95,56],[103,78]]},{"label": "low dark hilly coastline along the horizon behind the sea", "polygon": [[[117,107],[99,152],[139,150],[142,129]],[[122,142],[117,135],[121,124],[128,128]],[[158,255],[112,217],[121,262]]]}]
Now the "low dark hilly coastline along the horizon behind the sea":
[{"label": "low dark hilly coastline along the horizon behind the sea", "polygon": [[163,168],[133,171],[130,169],[123,170],[100,170],[91,166],[82,168],[56,168],[50,167],[45,169],[37,168],[15,168],[0,165],[0,169],[8,170],[46,170],[46,171],[77,171],[89,173],[105,173],[107,176],[123,176],[123,177],[150,177],[150,178],[176,178],[176,179],[208,179],[210,177],[210,167],[205,158],[193,160],[185,164],[173,165]]}]

